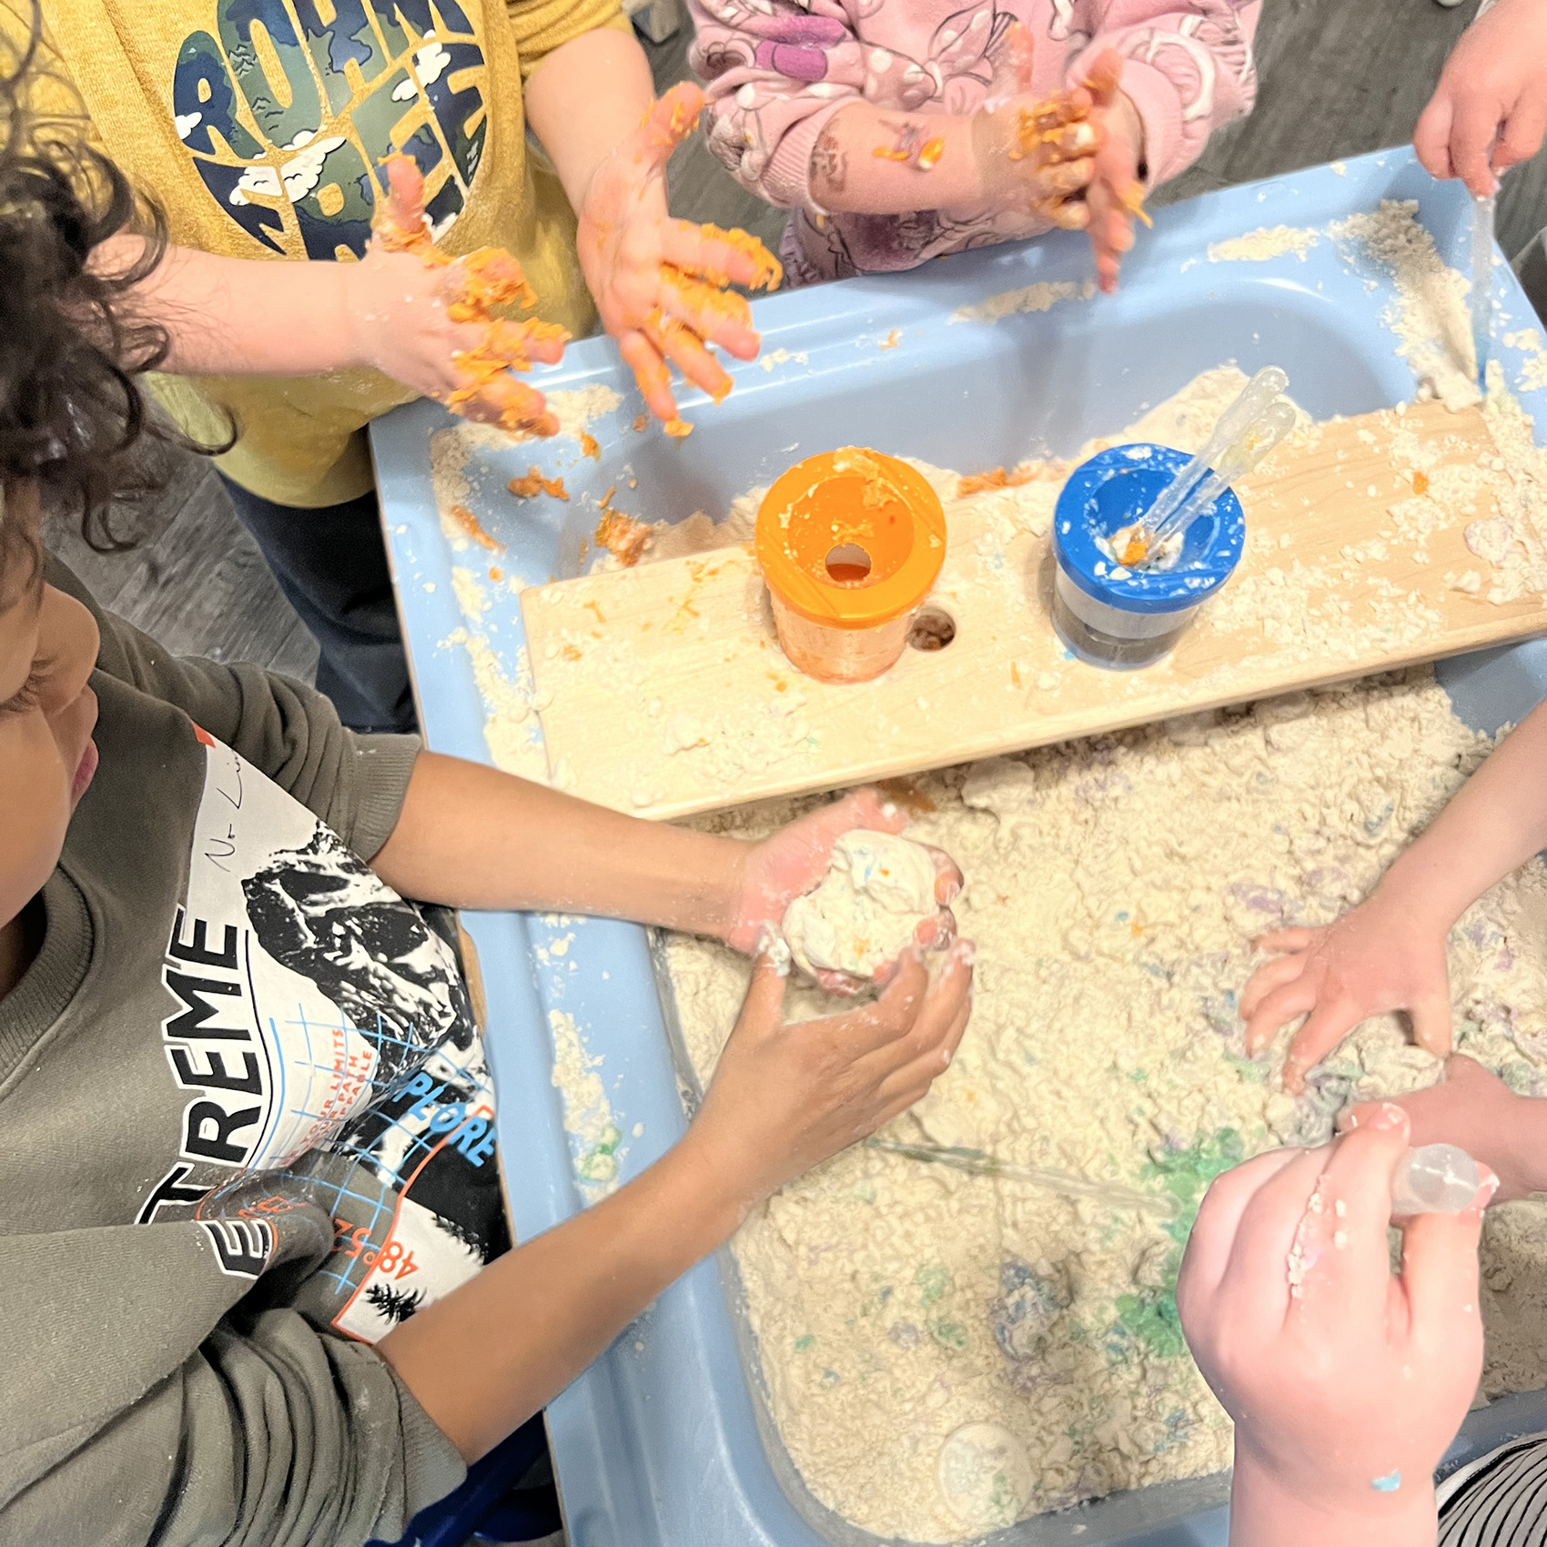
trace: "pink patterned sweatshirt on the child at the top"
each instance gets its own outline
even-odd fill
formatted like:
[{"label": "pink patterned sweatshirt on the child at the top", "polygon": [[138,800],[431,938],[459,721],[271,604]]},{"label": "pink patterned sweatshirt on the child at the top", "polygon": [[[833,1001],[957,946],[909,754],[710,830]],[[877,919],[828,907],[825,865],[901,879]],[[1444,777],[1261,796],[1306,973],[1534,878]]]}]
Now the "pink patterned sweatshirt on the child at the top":
[{"label": "pink patterned sweatshirt on the child at the top", "polygon": [[792,210],[791,283],[911,269],[925,258],[1036,235],[1026,215],[914,210],[828,215],[811,153],[849,102],[967,114],[984,101],[1006,32],[1033,40],[1032,90],[1078,80],[1101,48],[1125,56],[1123,91],[1145,124],[1146,187],[1176,176],[1208,136],[1250,111],[1261,0],[690,0],[688,56],[713,116],[709,144],[736,181]]}]

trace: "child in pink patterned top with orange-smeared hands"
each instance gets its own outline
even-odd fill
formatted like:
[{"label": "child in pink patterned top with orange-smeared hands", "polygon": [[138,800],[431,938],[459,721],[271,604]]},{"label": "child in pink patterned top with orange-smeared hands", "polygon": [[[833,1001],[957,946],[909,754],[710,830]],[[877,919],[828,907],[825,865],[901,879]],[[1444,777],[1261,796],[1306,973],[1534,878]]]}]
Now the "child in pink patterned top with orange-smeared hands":
[{"label": "child in pink patterned top with orange-smeared hands", "polygon": [[1261,0],[692,0],[710,149],[791,210],[795,283],[1088,229],[1252,110]]}]

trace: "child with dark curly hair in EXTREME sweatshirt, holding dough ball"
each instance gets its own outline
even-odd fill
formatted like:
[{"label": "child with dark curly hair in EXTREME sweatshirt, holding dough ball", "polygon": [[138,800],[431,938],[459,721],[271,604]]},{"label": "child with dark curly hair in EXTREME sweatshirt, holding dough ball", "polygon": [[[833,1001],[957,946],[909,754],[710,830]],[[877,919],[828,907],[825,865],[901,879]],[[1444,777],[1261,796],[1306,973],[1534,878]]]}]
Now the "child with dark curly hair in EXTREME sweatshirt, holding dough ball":
[{"label": "child with dark curly hair in EXTREME sweatshirt, holding dough ball", "polygon": [[167,433],[139,394],[162,252],[118,169],[29,116],[26,65],[0,56],[0,1541],[396,1539],[930,1088],[970,1007],[961,877],[941,857],[933,982],[908,951],[874,1004],[781,1026],[763,958],[681,1142],[511,1247],[455,934],[404,899],[752,951],[842,832],[903,818],[866,792],[756,845],[636,821],[97,608],[40,509],[127,535],[107,501]]}]

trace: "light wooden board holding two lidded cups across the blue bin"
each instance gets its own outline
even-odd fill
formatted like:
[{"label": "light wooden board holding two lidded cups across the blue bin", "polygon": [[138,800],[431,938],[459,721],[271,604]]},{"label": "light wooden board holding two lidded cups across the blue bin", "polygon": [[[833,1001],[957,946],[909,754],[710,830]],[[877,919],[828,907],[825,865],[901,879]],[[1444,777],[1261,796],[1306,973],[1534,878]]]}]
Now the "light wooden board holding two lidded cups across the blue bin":
[{"label": "light wooden board holding two lidded cups across the blue bin", "polygon": [[[956,480],[937,487],[954,495]],[[1519,562],[1494,568],[1467,546],[1479,521],[1485,551],[1508,537],[1496,501],[1513,509],[1510,490],[1476,408],[1422,404],[1292,436],[1239,489],[1238,572],[1142,671],[1074,661],[1052,631],[1052,478],[947,503],[931,605],[956,637],[905,651],[874,682],[823,684],[789,665],[747,548],[534,586],[521,611],[549,770],[588,800],[676,817],[1541,633],[1539,591],[1504,599],[1522,591]]]}]

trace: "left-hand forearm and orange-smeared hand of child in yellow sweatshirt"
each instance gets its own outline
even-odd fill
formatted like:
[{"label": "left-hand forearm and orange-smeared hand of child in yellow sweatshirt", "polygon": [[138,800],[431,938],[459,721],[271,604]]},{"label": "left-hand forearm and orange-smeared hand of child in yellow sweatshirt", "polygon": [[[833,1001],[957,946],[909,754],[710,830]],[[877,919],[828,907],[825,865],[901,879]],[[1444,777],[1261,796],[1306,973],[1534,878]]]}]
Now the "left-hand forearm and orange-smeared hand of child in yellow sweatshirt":
[{"label": "left-hand forearm and orange-smeared hand of child in yellow sweatshirt", "polygon": [[[424,179],[407,158],[388,167],[390,195],[379,231],[422,232]],[[124,274],[142,255],[138,237],[102,243],[93,266]],[[512,289],[521,271],[498,268]],[[489,277],[487,274],[484,275]],[[463,261],[433,266],[373,237],[359,263],[282,263],[223,258],[172,248],[133,288],[135,311],[166,331],[164,368],[187,376],[317,376],[370,367],[446,401],[472,390],[456,410],[506,429],[552,432],[540,393],[509,374],[532,360],[557,362],[563,334],[545,323],[458,320],[470,285]],[[469,373],[463,356],[501,359],[507,370]],[[487,376],[487,379],[486,379]]]}]

